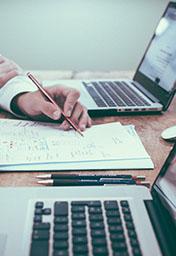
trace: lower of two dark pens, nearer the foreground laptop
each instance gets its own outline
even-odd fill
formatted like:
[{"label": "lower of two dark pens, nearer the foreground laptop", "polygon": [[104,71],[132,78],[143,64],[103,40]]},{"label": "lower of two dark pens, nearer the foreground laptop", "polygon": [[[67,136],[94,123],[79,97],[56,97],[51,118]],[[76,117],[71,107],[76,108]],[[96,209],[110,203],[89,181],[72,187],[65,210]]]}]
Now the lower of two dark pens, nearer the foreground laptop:
[{"label": "lower of two dark pens, nearer the foreground laptop", "polygon": [[135,185],[137,184],[135,180],[132,179],[121,179],[121,180],[40,180],[39,184],[47,185],[47,186],[104,186],[104,185]]}]

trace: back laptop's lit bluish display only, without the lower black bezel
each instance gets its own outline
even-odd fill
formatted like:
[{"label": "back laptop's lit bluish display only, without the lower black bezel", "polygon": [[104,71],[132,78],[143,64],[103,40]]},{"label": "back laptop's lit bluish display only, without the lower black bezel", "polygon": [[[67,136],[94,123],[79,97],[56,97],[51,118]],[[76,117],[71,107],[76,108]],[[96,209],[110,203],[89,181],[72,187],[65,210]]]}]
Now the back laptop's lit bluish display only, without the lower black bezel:
[{"label": "back laptop's lit bluish display only, without the lower black bezel", "polygon": [[139,71],[170,91],[176,80],[176,8],[171,5],[155,30]]}]

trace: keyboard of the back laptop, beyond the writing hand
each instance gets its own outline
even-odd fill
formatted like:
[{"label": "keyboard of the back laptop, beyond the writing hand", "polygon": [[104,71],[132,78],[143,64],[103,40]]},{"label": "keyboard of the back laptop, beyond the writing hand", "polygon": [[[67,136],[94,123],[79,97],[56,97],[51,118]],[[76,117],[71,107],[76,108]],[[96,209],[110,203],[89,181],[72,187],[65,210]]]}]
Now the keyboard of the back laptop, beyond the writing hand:
[{"label": "keyboard of the back laptop, beyond the writing hand", "polygon": [[83,84],[98,107],[151,105],[124,81],[99,81],[88,84],[83,82]]}]

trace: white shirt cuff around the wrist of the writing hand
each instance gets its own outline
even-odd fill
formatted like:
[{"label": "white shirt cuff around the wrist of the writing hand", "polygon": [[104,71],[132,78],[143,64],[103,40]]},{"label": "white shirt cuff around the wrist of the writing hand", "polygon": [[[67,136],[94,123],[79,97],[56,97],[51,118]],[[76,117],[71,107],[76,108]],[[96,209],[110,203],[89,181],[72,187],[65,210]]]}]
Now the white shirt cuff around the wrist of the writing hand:
[{"label": "white shirt cuff around the wrist of the writing hand", "polygon": [[1,89],[0,89],[0,107],[14,113],[10,107],[12,99],[19,93],[36,91],[36,86],[33,82],[26,76],[16,76],[10,79]]}]

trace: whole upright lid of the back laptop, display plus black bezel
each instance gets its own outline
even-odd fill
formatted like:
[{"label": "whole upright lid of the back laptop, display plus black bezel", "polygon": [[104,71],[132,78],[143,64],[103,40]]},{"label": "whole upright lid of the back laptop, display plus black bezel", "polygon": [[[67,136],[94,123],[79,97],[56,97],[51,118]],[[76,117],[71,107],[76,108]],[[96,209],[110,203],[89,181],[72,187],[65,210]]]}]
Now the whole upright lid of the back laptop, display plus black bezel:
[{"label": "whole upright lid of the back laptop, display plus black bezel", "polygon": [[175,93],[176,81],[176,3],[170,2],[134,75],[163,105],[169,104]]}]

